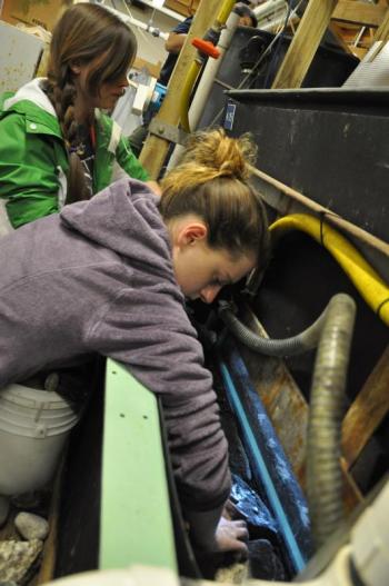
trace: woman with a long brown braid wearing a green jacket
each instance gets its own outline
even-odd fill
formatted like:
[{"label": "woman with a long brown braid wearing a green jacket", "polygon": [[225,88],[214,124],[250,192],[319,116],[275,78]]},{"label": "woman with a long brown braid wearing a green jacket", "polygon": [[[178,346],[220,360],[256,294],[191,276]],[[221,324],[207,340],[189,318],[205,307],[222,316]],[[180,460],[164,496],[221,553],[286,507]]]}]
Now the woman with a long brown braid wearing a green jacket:
[{"label": "woman with a long brown braid wearing a green jacket", "polygon": [[148,179],[102,111],[124,92],[136,51],[118,17],[76,4],[53,31],[48,77],[1,97],[0,236],[89,199],[124,173]]}]

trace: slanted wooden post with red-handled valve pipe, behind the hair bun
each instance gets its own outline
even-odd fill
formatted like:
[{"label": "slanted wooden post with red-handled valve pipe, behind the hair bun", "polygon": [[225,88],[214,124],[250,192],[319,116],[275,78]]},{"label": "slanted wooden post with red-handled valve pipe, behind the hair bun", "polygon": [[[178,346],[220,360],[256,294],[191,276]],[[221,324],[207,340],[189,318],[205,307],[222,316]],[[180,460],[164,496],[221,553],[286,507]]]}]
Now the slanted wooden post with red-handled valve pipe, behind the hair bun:
[{"label": "slanted wooden post with red-handled valve pipe, behind the hair bun", "polygon": [[[180,119],[180,91],[192,62],[196,49],[191,44],[193,37],[202,37],[213,24],[220,10],[220,0],[201,0],[196,17],[190,28],[188,38],[182,47],[176,68],[169,81],[168,92],[164,97],[156,120],[178,127]],[[168,153],[170,142],[163,138],[149,135],[140,153],[139,160],[148,170],[152,179],[157,179]]]}]

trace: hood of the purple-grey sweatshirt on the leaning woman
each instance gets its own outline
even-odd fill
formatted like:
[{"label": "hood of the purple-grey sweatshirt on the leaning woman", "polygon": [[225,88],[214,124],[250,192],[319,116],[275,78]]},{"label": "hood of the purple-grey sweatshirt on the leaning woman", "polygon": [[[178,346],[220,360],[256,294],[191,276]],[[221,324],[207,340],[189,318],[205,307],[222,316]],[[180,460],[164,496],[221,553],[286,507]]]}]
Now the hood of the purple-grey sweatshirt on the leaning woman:
[{"label": "hood of the purple-grey sweatshirt on the leaning woman", "polygon": [[168,230],[157,208],[159,197],[134,179],[121,179],[88,201],[66,206],[61,222],[131,265],[170,274],[176,282]]}]

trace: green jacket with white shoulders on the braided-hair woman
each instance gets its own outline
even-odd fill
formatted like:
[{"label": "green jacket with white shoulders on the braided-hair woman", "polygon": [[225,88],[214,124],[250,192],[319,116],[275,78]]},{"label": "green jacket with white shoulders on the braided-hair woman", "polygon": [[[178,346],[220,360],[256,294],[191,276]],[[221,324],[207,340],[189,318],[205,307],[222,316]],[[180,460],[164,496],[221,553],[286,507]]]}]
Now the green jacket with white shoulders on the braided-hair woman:
[{"label": "green jacket with white shoulders on the braided-hair woman", "polygon": [[[68,156],[41,81],[0,96],[0,236],[59,211],[66,200]],[[120,127],[100,110],[96,116],[93,193],[124,173],[146,181]]]}]

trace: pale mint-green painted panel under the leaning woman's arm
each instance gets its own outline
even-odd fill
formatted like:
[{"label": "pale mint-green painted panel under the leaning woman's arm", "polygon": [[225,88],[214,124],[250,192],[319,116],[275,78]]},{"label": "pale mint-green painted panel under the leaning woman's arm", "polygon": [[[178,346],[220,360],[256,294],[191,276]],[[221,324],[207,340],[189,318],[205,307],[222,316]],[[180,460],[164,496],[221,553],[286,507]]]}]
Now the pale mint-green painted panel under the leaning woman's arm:
[{"label": "pale mint-green painted panel under the leaning woman's arm", "polygon": [[99,567],[177,570],[157,399],[110,359],[101,490]]}]

